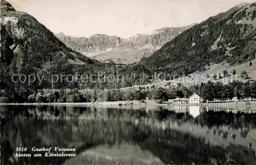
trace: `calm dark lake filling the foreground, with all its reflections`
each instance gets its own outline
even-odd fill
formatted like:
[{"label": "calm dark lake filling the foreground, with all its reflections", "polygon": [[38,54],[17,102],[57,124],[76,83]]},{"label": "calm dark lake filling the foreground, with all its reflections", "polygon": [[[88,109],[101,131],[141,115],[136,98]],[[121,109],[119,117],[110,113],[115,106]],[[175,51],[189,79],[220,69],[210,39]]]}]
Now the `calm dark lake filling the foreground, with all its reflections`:
[{"label": "calm dark lake filling the foreground, with all its reflections", "polygon": [[0,105],[0,112],[1,164],[256,162],[250,109]]}]

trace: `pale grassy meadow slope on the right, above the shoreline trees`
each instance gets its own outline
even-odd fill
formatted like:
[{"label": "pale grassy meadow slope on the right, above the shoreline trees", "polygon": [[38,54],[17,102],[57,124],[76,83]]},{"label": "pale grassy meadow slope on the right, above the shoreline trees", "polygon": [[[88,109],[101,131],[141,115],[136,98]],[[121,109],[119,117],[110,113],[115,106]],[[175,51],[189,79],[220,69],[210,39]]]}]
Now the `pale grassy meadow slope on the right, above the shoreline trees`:
[{"label": "pale grassy meadow slope on the right, above the shoreline trees", "polygon": [[[210,80],[211,82],[222,82],[223,84],[228,84],[228,82],[232,82],[233,80],[237,81],[242,81],[242,82],[247,82],[248,80],[256,80],[256,59],[250,61],[252,65],[249,65],[249,62],[243,63],[240,65],[235,65],[235,66],[228,66],[227,63],[219,63],[219,64],[214,64],[211,65],[207,70],[205,71],[196,71],[194,73],[189,74],[189,76],[181,76],[174,78],[172,80],[164,80],[163,78],[161,80],[158,80],[152,84],[147,84],[147,85],[142,85],[142,86],[133,86],[133,87],[126,87],[122,88],[122,90],[138,90],[140,88],[152,88],[153,86],[155,88],[158,87],[163,87],[163,85],[166,85],[170,83],[171,85],[175,85],[177,82],[182,84],[184,87],[189,87],[193,85],[200,85],[201,82],[206,82]],[[216,75],[223,75],[223,70],[228,71],[228,76],[223,77],[220,79],[214,79],[214,74]],[[232,71],[236,70],[236,75],[232,75]],[[246,71],[248,74],[247,79],[243,79],[240,75],[242,71]],[[209,75],[209,78],[207,78],[207,75]],[[165,88],[169,88],[166,86]]]}]

